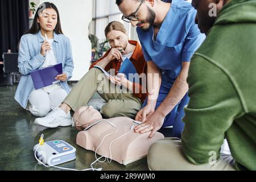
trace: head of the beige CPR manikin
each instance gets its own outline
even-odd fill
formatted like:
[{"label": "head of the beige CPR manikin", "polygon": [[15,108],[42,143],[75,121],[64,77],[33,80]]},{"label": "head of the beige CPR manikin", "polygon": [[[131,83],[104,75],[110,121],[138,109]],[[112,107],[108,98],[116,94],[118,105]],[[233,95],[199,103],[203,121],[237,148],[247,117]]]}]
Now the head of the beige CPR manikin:
[{"label": "head of the beige CPR manikin", "polygon": [[84,130],[90,124],[100,119],[102,119],[101,113],[94,109],[93,106],[82,106],[73,115],[73,121],[76,129],[79,131]]}]

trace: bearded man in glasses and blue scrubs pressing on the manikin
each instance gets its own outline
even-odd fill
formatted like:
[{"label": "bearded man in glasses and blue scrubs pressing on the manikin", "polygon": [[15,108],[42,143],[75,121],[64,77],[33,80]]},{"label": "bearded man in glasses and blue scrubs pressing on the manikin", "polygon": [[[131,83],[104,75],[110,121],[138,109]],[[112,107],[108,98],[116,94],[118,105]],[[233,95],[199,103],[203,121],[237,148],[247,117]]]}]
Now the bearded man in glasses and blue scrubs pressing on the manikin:
[{"label": "bearded man in glasses and blue scrubs pressing on the manikin", "polygon": [[[136,116],[143,123],[134,131],[150,136],[173,126],[171,137],[181,137],[184,107],[189,102],[187,75],[191,57],[205,35],[195,24],[196,10],[184,0],[117,0],[122,20],[137,26],[147,61],[148,98]],[[199,73],[200,74],[200,73]],[[155,77],[159,75],[158,77]]]}]

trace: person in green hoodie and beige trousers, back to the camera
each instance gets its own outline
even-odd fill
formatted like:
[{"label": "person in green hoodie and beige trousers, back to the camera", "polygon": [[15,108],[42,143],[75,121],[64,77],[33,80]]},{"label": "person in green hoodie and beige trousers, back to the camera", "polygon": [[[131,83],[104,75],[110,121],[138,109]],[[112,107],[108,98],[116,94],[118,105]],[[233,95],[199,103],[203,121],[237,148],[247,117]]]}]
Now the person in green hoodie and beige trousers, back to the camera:
[{"label": "person in green hoodie and beige trousers, back to the camera", "polygon": [[[180,139],[151,145],[151,170],[256,170],[256,0],[193,0],[207,39],[192,57]],[[210,14],[217,14],[210,16]],[[221,154],[224,138],[231,155]]]}]

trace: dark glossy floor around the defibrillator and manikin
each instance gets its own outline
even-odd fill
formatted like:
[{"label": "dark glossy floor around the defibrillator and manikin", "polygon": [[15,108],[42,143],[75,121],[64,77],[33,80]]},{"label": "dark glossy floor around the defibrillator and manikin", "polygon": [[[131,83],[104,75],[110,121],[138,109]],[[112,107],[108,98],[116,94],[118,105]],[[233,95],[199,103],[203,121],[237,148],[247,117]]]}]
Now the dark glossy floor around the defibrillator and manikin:
[{"label": "dark glossy floor around the defibrillator and manikin", "polygon": [[[47,129],[34,124],[35,117],[14,100],[16,86],[0,86],[0,170],[59,170],[39,165],[34,158],[33,147],[44,134],[44,140],[61,139],[76,148],[76,159],[60,164],[60,167],[89,168],[94,158],[92,151],[76,145],[77,130],[74,127]],[[94,167],[103,170],[148,170],[146,158],[127,166],[112,163],[97,163]]]}]

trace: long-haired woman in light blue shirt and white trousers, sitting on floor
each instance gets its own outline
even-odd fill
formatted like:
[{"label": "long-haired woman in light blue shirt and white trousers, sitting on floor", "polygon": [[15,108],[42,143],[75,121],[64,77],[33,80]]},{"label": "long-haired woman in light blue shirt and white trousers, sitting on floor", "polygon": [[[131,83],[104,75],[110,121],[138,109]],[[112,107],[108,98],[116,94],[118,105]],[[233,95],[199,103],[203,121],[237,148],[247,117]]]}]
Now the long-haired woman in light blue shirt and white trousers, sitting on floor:
[{"label": "long-haired woman in light blue shirt and white trousers, sitting on floor", "polygon": [[[60,82],[35,89],[30,73],[37,69],[62,63]],[[20,39],[19,72],[22,74],[15,100],[37,117],[43,117],[59,106],[69,93],[67,80],[72,77],[73,56],[71,42],[63,35],[60,16],[53,3],[45,2],[36,11],[34,22]]]}]

